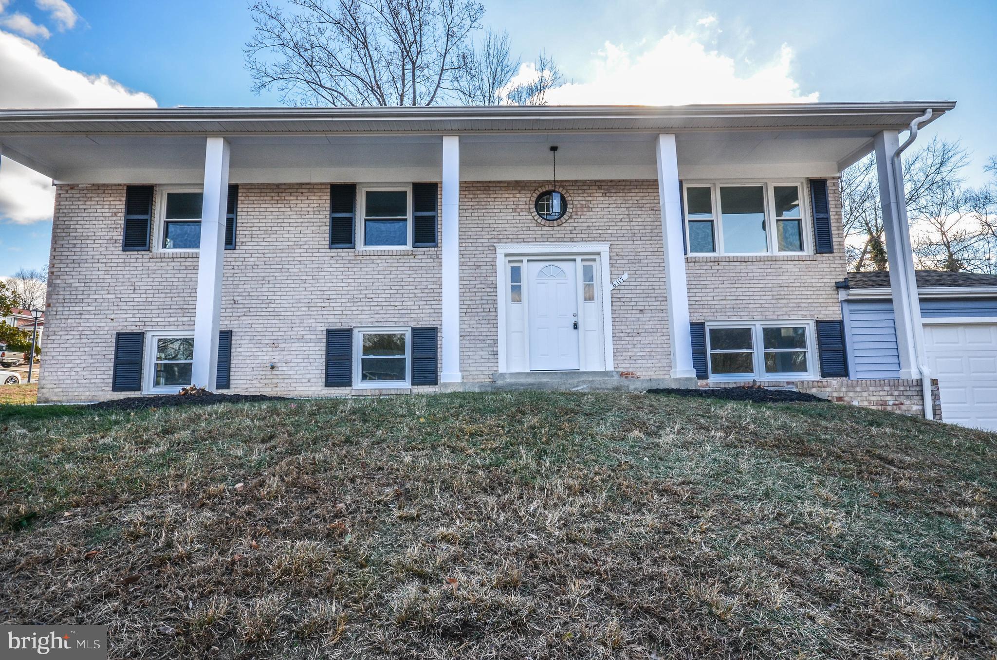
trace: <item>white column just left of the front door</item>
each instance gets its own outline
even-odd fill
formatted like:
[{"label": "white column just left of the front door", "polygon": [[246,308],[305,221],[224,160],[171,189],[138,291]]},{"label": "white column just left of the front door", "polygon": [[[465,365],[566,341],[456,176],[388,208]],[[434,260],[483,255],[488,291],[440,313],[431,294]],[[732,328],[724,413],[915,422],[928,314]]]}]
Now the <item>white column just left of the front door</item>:
[{"label": "white column just left of the front door", "polygon": [[444,383],[461,378],[461,139],[443,139],[443,370]]}]

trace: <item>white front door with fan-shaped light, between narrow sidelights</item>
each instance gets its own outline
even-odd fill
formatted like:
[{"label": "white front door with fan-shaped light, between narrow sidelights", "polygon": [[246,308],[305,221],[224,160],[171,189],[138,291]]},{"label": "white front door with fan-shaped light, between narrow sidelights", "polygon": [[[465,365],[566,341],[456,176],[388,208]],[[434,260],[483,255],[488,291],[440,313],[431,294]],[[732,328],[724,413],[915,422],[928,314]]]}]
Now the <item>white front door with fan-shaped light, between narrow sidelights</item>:
[{"label": "white front door with fan-shaped light, between narrow sidelights", "polygon": [[526,262],[529,370],[578,369],[578,283],[575,261]]}]

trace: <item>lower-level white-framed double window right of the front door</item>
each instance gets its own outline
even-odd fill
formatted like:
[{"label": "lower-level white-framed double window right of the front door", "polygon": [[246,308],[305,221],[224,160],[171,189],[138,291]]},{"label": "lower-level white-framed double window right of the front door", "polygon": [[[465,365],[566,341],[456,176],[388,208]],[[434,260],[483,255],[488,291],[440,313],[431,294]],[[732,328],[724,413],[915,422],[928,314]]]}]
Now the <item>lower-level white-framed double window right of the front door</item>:
[{"label": "lower-level white-framed double window right of the front door", "polygon": [[810,378],[814,327],[810,322],[707,324],[711,379]]}]

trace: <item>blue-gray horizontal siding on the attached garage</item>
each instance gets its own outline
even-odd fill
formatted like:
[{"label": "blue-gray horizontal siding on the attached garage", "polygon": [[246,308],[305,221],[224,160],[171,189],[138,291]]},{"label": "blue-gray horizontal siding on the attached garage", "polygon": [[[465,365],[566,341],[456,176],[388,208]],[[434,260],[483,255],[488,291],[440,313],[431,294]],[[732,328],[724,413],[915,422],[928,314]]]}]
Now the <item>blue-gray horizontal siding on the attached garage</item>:
[{"label": "blue-gray horizontal siding on the attached garage", "polygon": [[[842,318],[848,351],[848,369],[854,379],[899,378],[893,303],[889,300],[843,302]],[[921,317],[993,316],[997,298],[922,300]]]}]

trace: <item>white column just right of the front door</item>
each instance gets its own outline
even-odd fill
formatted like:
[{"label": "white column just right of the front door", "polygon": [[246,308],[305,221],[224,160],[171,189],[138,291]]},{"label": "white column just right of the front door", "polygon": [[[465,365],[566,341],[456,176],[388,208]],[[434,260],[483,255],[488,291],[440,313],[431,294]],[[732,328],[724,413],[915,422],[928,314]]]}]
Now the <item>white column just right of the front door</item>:
[{"label": "white column just right of the front door", "polygon": [[689,336],[689,289],[686,285],[685,249],[682,240],[682,190],[675,136],[658,136],[658,198],[661,202],[661,235],[665,243],[665,288],[668,294],[668,327],[672,345],[672,378],[695,378],[692,339]]}]

